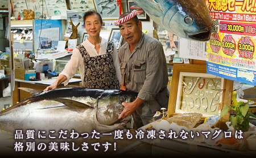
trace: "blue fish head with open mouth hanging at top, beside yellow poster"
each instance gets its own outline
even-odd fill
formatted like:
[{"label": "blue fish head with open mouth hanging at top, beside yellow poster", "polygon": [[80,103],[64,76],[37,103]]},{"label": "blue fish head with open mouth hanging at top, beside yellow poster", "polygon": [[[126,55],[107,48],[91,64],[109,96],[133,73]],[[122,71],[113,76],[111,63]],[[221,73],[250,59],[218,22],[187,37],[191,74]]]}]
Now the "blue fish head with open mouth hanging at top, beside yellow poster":
[{"label": "blue fish head with open mouth hanging at top, beside yellow poster", "polygon": [[208,41],[213,25],[204,0],[133,0],[167,31],[187,39]]}]

